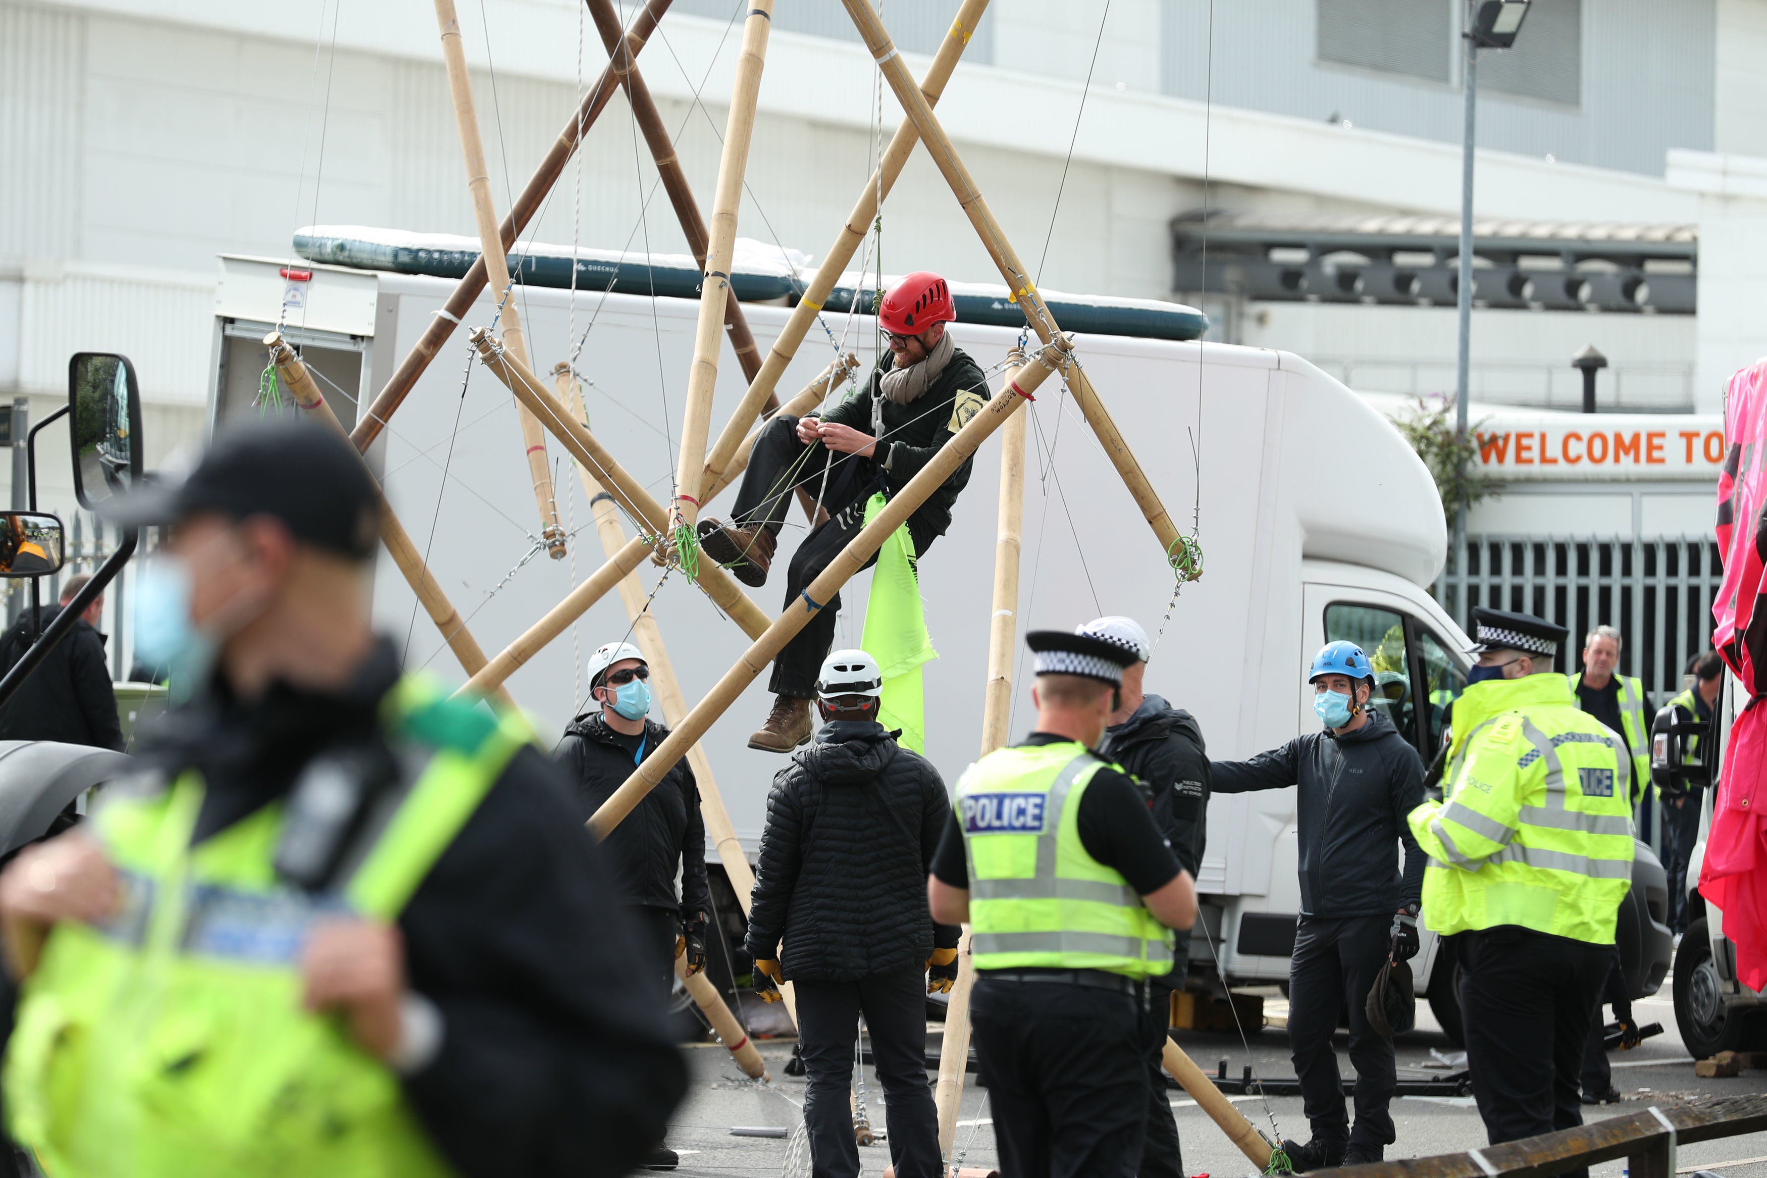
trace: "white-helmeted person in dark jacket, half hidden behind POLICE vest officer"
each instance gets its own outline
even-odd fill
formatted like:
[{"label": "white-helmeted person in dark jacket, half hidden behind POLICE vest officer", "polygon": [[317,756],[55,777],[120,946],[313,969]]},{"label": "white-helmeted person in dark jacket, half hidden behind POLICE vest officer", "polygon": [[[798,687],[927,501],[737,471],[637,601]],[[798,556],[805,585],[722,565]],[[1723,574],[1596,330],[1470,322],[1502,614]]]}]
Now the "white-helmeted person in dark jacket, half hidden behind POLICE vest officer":
[{"label": "white-helmeted person in dark jacket, half hidden behind POLICE vest officer", "polygon": [[[1143,689],[1147,661],[1154,653],[1147,631],[1134,618],[1096,618],[1080,627],[1081,634],[1103,638],[1134,652],[1134,662],[1122,669],[1117,710],[1104,729],[1099,754],[1111,758],[1152,795],[1154,825],[1166,835],[1172,853],[1184,871],[1196,878],[1203,858],[1209,812],[1209,754],[1196,717],[1173,708],[1161,696]],[[1191,934],[1172,938],[1172,971],[1149,978],[1147,1010],[1147,1143],[1141,1148],[1140,1178],[1184,1178],[1179,1123],[1166,1097],[1163,1063],[1166,1033],[1172,1030],[1172,991],[1184,989],[1189,970]]]}]

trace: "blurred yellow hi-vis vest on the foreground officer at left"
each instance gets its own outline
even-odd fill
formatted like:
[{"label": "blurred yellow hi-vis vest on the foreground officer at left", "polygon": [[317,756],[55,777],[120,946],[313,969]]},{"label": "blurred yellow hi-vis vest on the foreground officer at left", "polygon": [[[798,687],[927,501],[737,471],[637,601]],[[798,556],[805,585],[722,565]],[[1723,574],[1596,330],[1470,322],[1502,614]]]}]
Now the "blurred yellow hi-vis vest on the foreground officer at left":
[{"label": "blurred yellow hi-vis vest on the foreground officer at left", "polygon": [[452,1173],[398,1076],[337,1017],[302,1008],[300,948],[315,918],[394,920],[530,733],[413,678],[383,706],[396,745],[428,763],[341,894],[276,878],[281,802],[194,848],[194,772],[99,809],[124,910],[49,933],[5,1054],[7,1125],[46,1173]]}]

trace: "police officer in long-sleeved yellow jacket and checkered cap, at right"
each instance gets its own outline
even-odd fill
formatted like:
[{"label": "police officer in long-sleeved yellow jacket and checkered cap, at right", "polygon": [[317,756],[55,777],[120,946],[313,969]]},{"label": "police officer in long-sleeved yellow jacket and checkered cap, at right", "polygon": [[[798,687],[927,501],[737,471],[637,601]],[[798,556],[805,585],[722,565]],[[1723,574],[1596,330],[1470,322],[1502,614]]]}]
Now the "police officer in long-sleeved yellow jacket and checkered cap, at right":
[{"label": "police officer in long-sleeved yellow jacket and checkered cap, at right", "polygon": [[[1491,1144],[1583,1123],[1578,1077],[1631,887],[1631,756],[1553,669],[1560,625],[1474,609],[1444,800],[1410,814],[1424,922],[1454,938]],[[1567,1171],[1587,1174],[1587,1169]]]}]

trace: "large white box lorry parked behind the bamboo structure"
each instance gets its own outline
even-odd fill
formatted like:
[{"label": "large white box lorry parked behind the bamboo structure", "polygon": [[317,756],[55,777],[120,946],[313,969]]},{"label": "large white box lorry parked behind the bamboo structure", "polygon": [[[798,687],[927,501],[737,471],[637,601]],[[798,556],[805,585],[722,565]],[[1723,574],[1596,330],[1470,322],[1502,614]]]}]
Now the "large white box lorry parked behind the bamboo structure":
[{"label": "large white box lorry parked behind the bamboo structure", "polygon": [[[353,422],[352,401],[383,385],[452,290],[436,277],[311,263],[293,270],[293,279],[286,261],[223,258],[221,265],[210,390],[217,417],[251,412],[265,366],[260,341],[283,316],[284,336],[322,374],[332,408],[345,424]],[[666,500],[696,304],[518,290],[535,369],[550,371],[580,344],[576,367],[587,381],[594,433]],[[481,298],[463,323],[489,325],[493,313]],[[765,353],[788,311],[746,304],[746,314]],[[836,341],[846,341],[866,362],[873,359],[869,318],[823,320],[827,332],[813,328],[779,383],[781,396],[804,387],[834,355]],[[958,323],[954,336],[990,367],[1018,332]],[[1444,562],[1444,517],[1430,473],[1399,433],[1339,381],[1285,351],[1083,334],[1078,355],[1166,509],[1180,526],[1194,510],[1205,574],[1184,588],[1164,622],[1173,576],[1161,546],[1051,380],[1027,406],[1034,426],[1020,632],[1069,629],[1106,613],[1140,618],[1159,634],[1149,691],[1196,715],[1214,758],[1251,756],[1315,728],[1308,661],[1325,641],[1348,638],[1375,659],[1380,706],[1430,763],[1442,738],[1444,705],[1465,682],[1470,643],[1426,592]],[[742,387],[726,353],[714,427]],[[560,461],[557,445],[551,452],[560,517],[573,532],[564,562],[535,555],[539,521],[514,408],[507,390],[479,371],[477,360],[468,362],[465,330],[371,449],[394,509],[488,652],[507,645],[603,562],[569,459]],[[977,756],[997,486],[998,445],[990,443],[975,456],[949,533],[921,560],[926,622],[940,655],[924,676],[926,752],[947,781]],[[710,503],[707,514],[728,514],[730,498],[726,493]],[[776,563],[790,558],[800,535],[802,516],[793,509]],[[747,638],[682,576],[663,578],[650,565],[641,572],[647,588],[661,583],[652,608],[686,696],[698,699],[737,661]],[[751,592],[769,613],[781,608],[781,579],[776,574],[767,588]],[[862,574],[843,592],[836,645],[859,643],[868,585],[869,574]],[[406,643],[412,666],[459,676],[385,558],[375,609]],[[581,661],[624,634],[626,613],[608,595],[573,634],[528,661],[509,689],[557,733],[583,708]],[[758,678],[703,742],[751,855],[767,789],[785,765],[746,747],[767,714],[765,687],[765,676]],[[1016,698],[1012,731],[1020,733],[1030,721],[1023,673]],[[1301,908],[1293,791],[1214,798],[1198,883],[1221,975],[1286,982]],[[1656,887],[1663,890],[1661,880]],[[1668,964],[1666,931],[1663,945],[1654,978],[1650,968],[1643,971],[1647,993]],[[1435,957],[1435,938],[1428,938],[1417,980],[1440,1007],[1449,991],[1437,984]],[[1193,963],[1212,970],[1202,945]]]}]

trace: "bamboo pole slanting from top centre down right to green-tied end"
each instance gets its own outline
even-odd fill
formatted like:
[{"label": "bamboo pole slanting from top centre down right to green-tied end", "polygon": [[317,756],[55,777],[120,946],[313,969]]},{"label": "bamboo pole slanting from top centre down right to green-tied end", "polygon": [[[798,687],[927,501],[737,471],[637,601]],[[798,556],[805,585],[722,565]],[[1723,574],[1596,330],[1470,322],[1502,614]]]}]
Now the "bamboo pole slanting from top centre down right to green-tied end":
[{"label": "bamboo pole slanting from top centre down right to green-tied end", "polygon": [[[958,157],[958,148],[951,143],[951,136],[947,136],[945,129],[938,124],[931,104],[915,88],[914,76],[908,74],[908,67],[903,64],[901,55],[896,53],[896,46],[891,42],[889,32],[884,28],[884,21],[878,19],[876,9],[871,7],[869,0],[841,0],[841,4],[846,5],[846,12],[859,28],[859,35],[864,39],[866,48],[871,49],[871,57],[878,62],[878,69],[884,71],[884,78],[896,94],[896,101],[901,102],[901,108],[908,113],[910,122],[914,122],[921,141],[926,143],[933,162],[938,164],[938,171],[945,177],[945,182],[956,194],[958,203],[963,205],[963,212],[968,215],[970,224],[975,226],[975,233],[981,237],[982,247],[1000,268],[1000,276],[1005,279],[1011,298],[1014,298],[1025,313],[1025,321],[1044,344],[1053,344],[1064,353],[1073,350],[1073,341],[1062,334],[1060,325],[1057,325],[1055,316],[1050,313],[1050,307],[1043,302],[1043,295],[1037,293],[1037,286],[1032,283],[1030,272],[1018,260],[1011,242],[1007,242],[1005,233],[1000,230],[1000,223],[995,221],[993,212],[982,200],[981,189],[975,187],[975,180],[970,178],[968,170]],[[1159,502],[1159,495],[1141,472],[1141,464],[1129,450],[1129,443],[1124,440],[1122,431],[1117,429],[1117,422],[1111,420],[1110,410],[1104,408],[1104,403],[1099,399],[1097,390],[1087,378],[1085,369],[1078,364],[1071,364],[1064,374],[1067,376],[1067,387],[1073,390],[1074,401],[1080,404],[1080,412],[1085,415],[1092,433],[1097,434],[1099,445],[1104,447],[1104,454],[1110,457],[1111,466],[1117,468],[1117,477],[1122,479],[1124,486],[1129,487],[1129,495],[1134,496],[1134,503],[1141,509],[1141,516],[1147,519],[1147,525],[1154,530],[1154,535],[1159,537],[1159,546],[1166,551],[1166,560],[1170,562],[1180,542],[1177,525],[1173,525],[1172,516],[1166,514],[1164,505]]]}]

